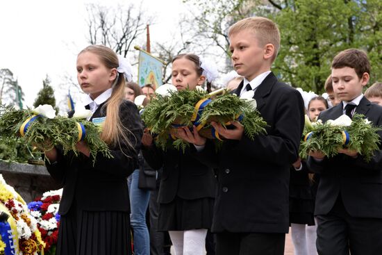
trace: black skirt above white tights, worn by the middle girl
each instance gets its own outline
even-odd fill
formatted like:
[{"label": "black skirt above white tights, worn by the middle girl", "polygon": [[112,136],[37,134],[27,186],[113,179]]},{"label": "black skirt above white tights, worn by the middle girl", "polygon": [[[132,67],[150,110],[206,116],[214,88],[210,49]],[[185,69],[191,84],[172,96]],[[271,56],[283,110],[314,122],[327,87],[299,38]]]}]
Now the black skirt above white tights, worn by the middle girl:
[{"label": "black skirt above white tights, worn by the middle girl", "polygon": [[185,231],[210,229],[213,219],[214,199],[181,199],[176,197],[168,204],[159,205],[158,231]]}]

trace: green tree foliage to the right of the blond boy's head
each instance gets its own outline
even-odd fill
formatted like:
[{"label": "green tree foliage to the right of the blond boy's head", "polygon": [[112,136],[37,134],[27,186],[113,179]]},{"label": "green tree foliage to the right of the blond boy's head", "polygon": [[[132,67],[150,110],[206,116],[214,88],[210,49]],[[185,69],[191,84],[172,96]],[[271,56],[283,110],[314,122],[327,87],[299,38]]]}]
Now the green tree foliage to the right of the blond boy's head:
[{"label": "green tree foliage to the right of the blond boy's head", "polygon": [[[288,1],[270,17],[281,31],[281,51],[274,71],[304,90],[324,92],[333,57],[339,51],[367,51],[372,81],[381,74],[381,1]],[[281,5],[282,6],[282,5]]]}]

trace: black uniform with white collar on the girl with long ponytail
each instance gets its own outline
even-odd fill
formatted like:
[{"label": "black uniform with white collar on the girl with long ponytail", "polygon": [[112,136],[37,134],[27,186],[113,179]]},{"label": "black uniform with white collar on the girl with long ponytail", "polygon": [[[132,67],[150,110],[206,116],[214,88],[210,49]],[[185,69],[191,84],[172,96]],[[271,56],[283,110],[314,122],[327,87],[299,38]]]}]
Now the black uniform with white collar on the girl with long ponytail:
[{"label": "black uniform with white collar on the girl with long ponytail", "polygon": [[[106,94],[110,97],[111,90]],[[90,121],[104,120],[108,97],[101,104],[87,106],[94,111]],[[126,179],[138,168],[142,124],[138,109],[129,101],[123,101],[119,116],[131,131],[126,135],[134,148],[120,141],[120,145],[110,147],[113,158],[99,153],[95,163],[83,154],[75,156],[69,151],[64,155],[56,148],[57,161],[46,163],[53,179],[63,185],[56,254],[131,254]]]}]

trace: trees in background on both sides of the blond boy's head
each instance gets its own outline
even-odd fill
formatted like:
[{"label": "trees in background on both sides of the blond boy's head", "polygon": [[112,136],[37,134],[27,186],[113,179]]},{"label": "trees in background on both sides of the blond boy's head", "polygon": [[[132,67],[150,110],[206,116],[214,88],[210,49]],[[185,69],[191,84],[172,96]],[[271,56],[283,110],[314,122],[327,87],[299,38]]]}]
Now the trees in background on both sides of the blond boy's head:
[{"label": "trees in background on both sides of the blond boy's head", "polygon": [[[324,92],[331,60],[351,47],[367,51],[370,84],[382,79],[382,1],[380,0],[183,0],[198,6],[197,29],[229,58],[228,28],[250,16],[269,17],[281,31],[273,70],[304,90]],[[227,61],[229,66],[229,61]]]}]

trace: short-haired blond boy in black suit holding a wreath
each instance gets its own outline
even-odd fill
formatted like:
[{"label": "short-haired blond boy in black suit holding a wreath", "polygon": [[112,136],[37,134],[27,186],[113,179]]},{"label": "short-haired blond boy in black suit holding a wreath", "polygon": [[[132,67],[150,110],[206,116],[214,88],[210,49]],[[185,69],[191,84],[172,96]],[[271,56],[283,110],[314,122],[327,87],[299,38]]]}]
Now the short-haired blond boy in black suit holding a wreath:
[{"label": "short-haired blond boy in black suit holding a wreath", "polygon": [[280,45],[272,20],[242,19],[231,26],[229,39],[233,66],[244,76],[234,93],[254,90],[267,133],[251,140],[240,122],[233,122],[234,129],[213,123],[226,138],[218,154],[197,132],[182,129],[178,137],[199,145],[199,161],[218,170],[212,227],[217,233],[216,254],[283,255],[289,227],[289,169],[298,158],[304,101],[270,71]]}]

